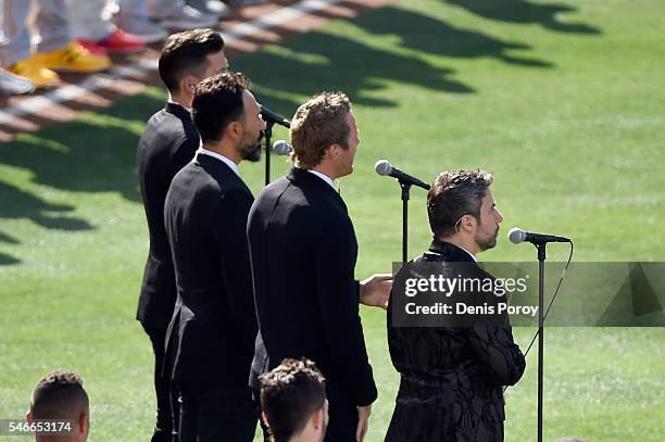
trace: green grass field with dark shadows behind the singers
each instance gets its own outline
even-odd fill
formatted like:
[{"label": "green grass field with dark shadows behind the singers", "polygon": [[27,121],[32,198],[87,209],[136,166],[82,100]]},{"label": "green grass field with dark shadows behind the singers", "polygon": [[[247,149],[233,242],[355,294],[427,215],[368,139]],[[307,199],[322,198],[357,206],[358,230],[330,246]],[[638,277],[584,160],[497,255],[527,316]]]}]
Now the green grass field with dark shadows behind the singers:
[{"label": "green grass field with dark shadows behind the singers", "polygon": [[[400,260],[400,192],[389,159],[427,180],[481,167],[505,220],[575,240],[576,261],[665,261],[665,3],[657,0],[402,0],[231,60],[260,100],[290,115],[322,89],[355,103],[362,144],[341,188],[360,242],[357,276]],[[151,349],[134,320],[147,226],[135,150],[163,105],[151,88],[0,144],[0,418],[25,414],[52,368],[81,374],[91,440],[146,441]],[[287,137],[278,129],[277,137]],[[274,161],[273,176],[288,169]],[[258,193],[263,164],[241,165]],[[429,242],[412,191],[412,255]],[[503,233],[485,261],[529,261]],[[550,260],[567,257],[550,248]],[[363,310],[381,441],[398,376],[382,312]],[[522,345],[534,330],[516,329]],[[547,441],[662,442],[665,330],[547,330]],[[506,395],[506,441],[536,431],[536,352]],[[0,440],[4,440],[0,435]],[[13,440],[7,438],[7,440]]]}]

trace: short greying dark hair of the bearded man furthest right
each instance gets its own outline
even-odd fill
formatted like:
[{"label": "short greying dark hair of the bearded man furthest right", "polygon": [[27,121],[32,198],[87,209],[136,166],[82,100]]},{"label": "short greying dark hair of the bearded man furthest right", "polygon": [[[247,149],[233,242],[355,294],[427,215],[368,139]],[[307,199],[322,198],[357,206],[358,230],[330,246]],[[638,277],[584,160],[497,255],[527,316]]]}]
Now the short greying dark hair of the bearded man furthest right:
[{"label": "short greying dark hair of the bearded man furthest right", "polygon": [[435,238],[455,233],[464,215],[480,220],[480,205],[492,181],[491,174],[480,169],[442,172],[427,192],[427,215]]}]

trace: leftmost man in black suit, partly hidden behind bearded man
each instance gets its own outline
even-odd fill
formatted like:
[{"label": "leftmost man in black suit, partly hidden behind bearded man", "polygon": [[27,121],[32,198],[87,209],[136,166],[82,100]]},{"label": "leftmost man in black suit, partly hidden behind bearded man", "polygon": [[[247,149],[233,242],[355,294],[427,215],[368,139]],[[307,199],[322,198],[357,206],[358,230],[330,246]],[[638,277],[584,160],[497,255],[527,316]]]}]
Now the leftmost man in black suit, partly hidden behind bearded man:
[{"label": "leftmost man in black suit, partly hidden behind bearded man", "polygon": [[177,415],[172,416],[168,377],[162,376],[166,327],[176,300],[175,274],[164,230],[164,200],[171,180],[199,148],[199,132],[190,113],[195,88],[202,79],[227,67],[218,33],[196,29],[168,37],[159,62],[160,75],[168,88],[168,102],[150,118],[139,141],[137,162],[150,252],[137,319],[150,337],[155,359],[158,420],[152,442],[171,441],[173,420],[177,421]]}]

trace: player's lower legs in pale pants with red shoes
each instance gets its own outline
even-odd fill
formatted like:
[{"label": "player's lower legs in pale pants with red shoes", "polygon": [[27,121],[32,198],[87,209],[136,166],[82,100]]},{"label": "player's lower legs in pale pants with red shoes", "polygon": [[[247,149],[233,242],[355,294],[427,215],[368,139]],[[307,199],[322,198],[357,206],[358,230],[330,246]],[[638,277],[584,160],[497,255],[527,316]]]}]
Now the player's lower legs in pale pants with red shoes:
[{"label": "player's lower legs in pale pants with red shoes", "polygon": [[88,51],[98,54],[131,53],[146,46],[143,40],[111,23],[106,0],[70,0],[72,36]]}]

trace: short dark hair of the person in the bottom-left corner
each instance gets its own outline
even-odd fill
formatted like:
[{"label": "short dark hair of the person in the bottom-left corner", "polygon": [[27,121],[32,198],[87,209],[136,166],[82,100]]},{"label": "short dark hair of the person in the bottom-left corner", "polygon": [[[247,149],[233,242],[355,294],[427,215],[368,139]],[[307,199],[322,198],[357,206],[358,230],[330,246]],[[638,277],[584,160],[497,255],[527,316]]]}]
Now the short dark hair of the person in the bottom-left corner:
[{"label": "short dark hair of the person in the bottom-left corner", "polygon": [[51,371],[37,382],[30,399],[35,419],[78,419],[88,406],[88,393],[74,371]]}]

